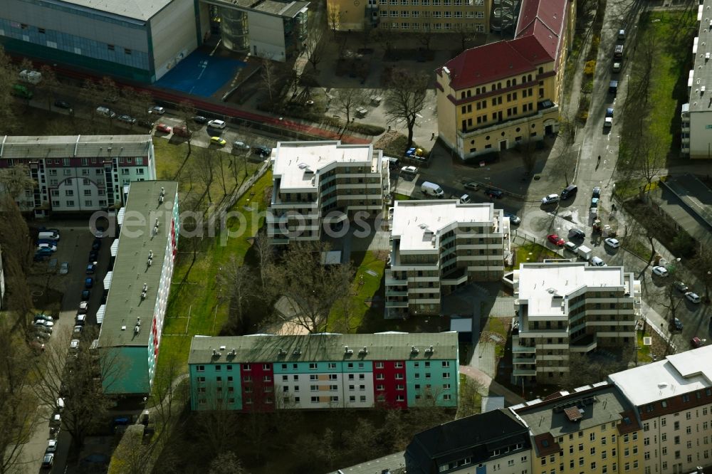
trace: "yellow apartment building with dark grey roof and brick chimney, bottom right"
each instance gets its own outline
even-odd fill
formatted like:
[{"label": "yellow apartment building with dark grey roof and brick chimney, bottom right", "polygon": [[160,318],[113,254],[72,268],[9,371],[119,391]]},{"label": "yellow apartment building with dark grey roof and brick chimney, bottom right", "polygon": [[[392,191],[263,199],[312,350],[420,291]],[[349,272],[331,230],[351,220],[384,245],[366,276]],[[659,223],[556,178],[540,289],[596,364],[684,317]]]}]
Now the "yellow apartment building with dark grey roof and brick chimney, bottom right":
[{"label": "yellow apartment building with dark grey roof and brick chimney, bottom right", "polygon": [[643,473],[643,432],[632,404],[600,382],[510,407],[528,426],[532,473]]}]

